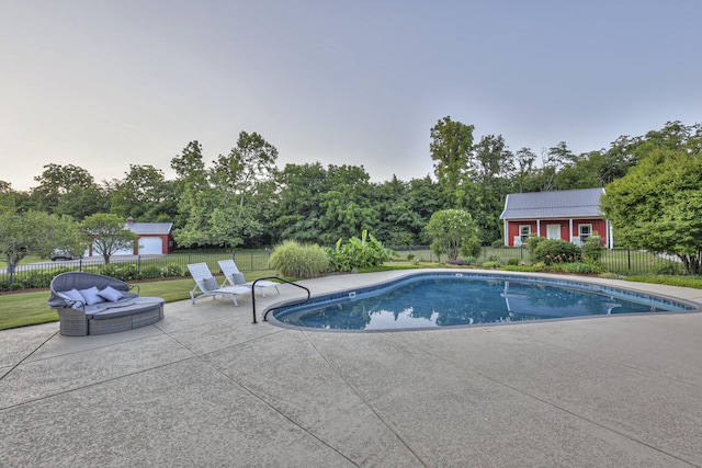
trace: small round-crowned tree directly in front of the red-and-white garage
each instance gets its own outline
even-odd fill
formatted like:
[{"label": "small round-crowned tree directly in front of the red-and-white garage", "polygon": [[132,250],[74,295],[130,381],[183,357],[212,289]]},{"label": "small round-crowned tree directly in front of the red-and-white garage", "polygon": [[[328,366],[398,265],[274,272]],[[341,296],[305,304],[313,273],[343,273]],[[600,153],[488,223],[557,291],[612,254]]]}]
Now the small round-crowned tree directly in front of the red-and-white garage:
[{"label": "small round-crowned tree directly in front of the red-and-white garage", "polygon": [[125,227],[125,221],[117,215],[99,213],[87,217],[81,222],[81,230],[93,250],[102,255],[105,263],[120,250],[133,249],[136,236]]}]

